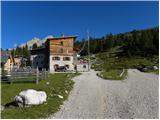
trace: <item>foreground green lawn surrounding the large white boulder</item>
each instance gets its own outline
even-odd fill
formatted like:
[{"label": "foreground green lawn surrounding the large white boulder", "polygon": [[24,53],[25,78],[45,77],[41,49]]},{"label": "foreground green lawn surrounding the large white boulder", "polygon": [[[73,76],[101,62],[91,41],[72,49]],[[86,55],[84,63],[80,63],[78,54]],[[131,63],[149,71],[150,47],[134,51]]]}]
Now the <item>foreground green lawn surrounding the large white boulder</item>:
[{"label": "foreground green lawn surrounding the large white boulder", "polygon": [[[42,80],[38,85],[35,83],[13,83],[1,84],[1,104],[5,105],[12,101],[15,95],[20,91],[26,89],[35,89],[45,91],[47,93],[47,102],[41,105],[32,106],[28,108],[5,108],[1,112],[2,119],[35,119],[46,118],[50,114],[59,110],[63,101],[68,98],[74,82],[71,80],[78,74],[50,74],[47,80]],[[47,85],[46,82],[50,84]],[[68,91],[66,93],[65,91]],[[62,95],[64,98],[60,99],[57,95]]]}]

